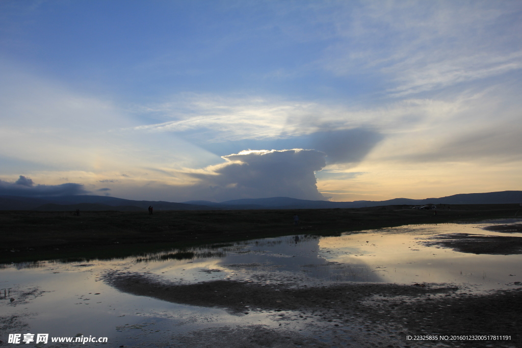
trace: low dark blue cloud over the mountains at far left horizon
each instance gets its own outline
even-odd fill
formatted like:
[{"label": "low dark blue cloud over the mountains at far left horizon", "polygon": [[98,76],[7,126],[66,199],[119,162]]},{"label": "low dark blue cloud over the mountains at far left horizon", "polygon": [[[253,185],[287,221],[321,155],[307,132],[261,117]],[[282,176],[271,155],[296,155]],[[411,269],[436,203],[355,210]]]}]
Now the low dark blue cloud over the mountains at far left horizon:
[{"label": "low dark blue cloud over the mountains at far left horizon", "polygon": [[30,178],[23,175],[20,175],[18,180],[14,183],[0,180],[0,195],[6,196],[66,196],[81,195],[88,192],[89,191],[85,190],[84,185],[82,184],[67,183],[61,185],[34,185]]}]

